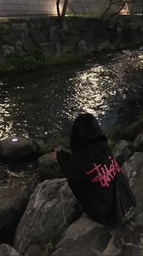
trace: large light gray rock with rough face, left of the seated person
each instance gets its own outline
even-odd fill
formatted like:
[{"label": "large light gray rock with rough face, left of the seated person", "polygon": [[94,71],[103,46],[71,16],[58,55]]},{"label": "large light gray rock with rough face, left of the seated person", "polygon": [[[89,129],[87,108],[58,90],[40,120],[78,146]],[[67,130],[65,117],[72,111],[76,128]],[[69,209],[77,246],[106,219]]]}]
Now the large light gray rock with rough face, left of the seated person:
[{"label": "large light gray rock with rough face, left of the seated person", "polygon": [[31,244],[58,239],[72,220],[81,214],[67,179],[47,180],[33,192],[15,233],[14,247],[21,254]]}]

